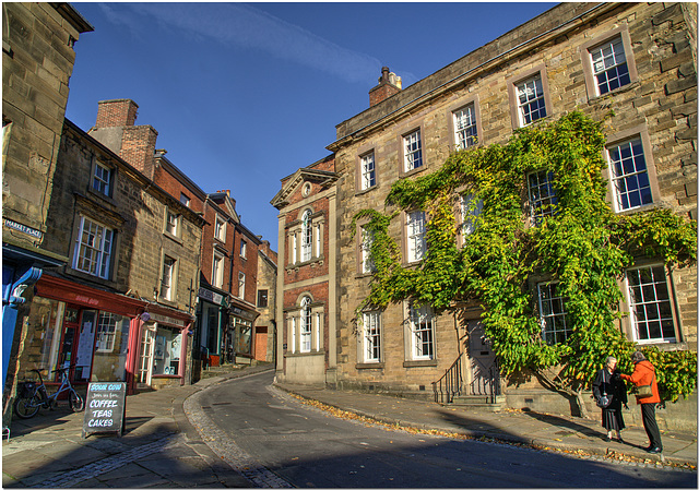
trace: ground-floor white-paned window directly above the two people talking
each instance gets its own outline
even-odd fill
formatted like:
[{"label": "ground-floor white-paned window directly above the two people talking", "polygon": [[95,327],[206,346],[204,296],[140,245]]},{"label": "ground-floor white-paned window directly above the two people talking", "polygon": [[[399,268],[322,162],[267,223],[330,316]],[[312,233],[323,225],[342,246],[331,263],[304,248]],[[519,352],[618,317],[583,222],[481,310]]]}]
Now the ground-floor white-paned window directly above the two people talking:
[{"label": "ground-floor white-paned window directly above the two people talking", "polygon": [[[649,282],[642,282],[641,271],[650,272]],[[639,279],[637,286],[631,285],[630,276],[636,276]],[[676,343],[675,302],[665,266],[651,264],[628,268],[624,275],[624,282],[633,340],[638,344]],[[633,289],[637,290],[637,295],[633,294]],[[655,321],[661,324],[660,335],[651,336],[650,324]],[[663,323],[670,324],[670,327],[663,327]],[[672,335],[670,335],[671,331]],[[641,332],[644,332],[645,335],[641,335]]]}]

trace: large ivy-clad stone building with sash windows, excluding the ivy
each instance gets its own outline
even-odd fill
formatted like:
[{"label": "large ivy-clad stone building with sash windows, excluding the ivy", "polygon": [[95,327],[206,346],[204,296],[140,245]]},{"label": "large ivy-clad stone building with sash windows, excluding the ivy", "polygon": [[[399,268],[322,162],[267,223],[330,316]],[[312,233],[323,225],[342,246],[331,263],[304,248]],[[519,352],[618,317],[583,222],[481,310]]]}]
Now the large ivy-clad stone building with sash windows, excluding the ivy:
[{"label": "large ivy-clad stone building with sash windows, excluding the ivy", "polygon": [[[696,8],[687,5],[561,3],[408,87],[384,69],[371,88],[370,107],[337,124],[336,141],[328,146],[334,156],[328,162],[334,166],[332,179],[328,177],[321,189],[333,200],[330,214],[323,215],[331,291],[329,307],[322,308],[332,314],[322,332],[333,338],[322,337],[330,348],[328,362],[324,373],[315,364],[312,377],[310,370],[298,369],[308,354],[299,352],[299,334],[296,340],[292,335],[304,291],[322,285],[320,274],[303,276],[311,270],[297,262],[293,241],[304,223],[299,213],[316,199],[312,192],[307,198],[299,193],[312,166],[284,179],[272,202],[280,208],[280,254],[286,261],[280,267],[283,299],[277,300],[277,321],[291,332],[280,340],[277,370],[288,381],[431,397],[433,383],[461,359],[463,347],[464,383],[499,383],[489,369],[495,357],[483,338],[477,306],[461,323],[408,302],[363,312],[358,330],[354,322],[355,309],[369,291],[371,264],[366,255],[368,237],[362,223],[352,229],[353,217],[365,208],[384,210],[393,182],[429,174],[455,148],[506,143],[518,128],[572,110],[602,120],[613,109],[605,157],[611,163],[619,158],[638,163],[633,175],[611,164],[605,177],[613,208],[636,213],[670,207],[696,220]],[[522,176],[523,193],[528,181],[534,179]],[[623,183],[628,184],[626,191],[620,191]],[[391,222],[389,231],[402,243],[404,266],[419,264],[425,225],[420,211],[402,213]],[[336,262],[331,254],[336,254]],[[662,328],[649,330],[642,320],[645,307],[627,299],[620,309],[630,314],[619,325],[627,337],[661,348],[696,350],[696,267],[670,271],[657,258],[623,273],[626,298],[629,284],[640,280],[653,288],[655,304],[667,312]],[[304,282],[303,287],[293,287],[294,280]],[[541,301],[537,285],[531,292]],[[569,411],[566,401],[535,383],[503,389],[510,406]]]}]

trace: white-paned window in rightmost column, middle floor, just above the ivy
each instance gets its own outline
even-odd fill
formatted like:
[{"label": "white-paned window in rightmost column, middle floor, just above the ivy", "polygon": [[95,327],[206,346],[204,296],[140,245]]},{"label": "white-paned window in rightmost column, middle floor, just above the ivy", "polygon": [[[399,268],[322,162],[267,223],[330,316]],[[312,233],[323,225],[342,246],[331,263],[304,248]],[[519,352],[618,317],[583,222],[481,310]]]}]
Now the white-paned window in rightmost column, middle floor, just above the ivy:
[{"label": "white-paned window in rightmost column, middle floor, just above the ivy", "polygon": [[651,204],[653,194],[641,139],[608,146],[607,155],[616,211]]}]

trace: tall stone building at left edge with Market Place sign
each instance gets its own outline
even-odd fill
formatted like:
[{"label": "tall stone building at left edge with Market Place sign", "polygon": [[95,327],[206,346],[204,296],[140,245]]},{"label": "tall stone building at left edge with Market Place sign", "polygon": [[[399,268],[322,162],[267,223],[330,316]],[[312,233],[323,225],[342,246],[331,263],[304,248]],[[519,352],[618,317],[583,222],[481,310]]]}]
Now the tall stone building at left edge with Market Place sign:
[{"label": "tall stone building at left edge with Market Place sign", "polygon": [[46,249],[46,215],[75,62],[73,45],[92,31],[64,2],[2,3],[3,402],[12,393],[16,349],[26,334],[29,286],[44,267],[68,261]]}]

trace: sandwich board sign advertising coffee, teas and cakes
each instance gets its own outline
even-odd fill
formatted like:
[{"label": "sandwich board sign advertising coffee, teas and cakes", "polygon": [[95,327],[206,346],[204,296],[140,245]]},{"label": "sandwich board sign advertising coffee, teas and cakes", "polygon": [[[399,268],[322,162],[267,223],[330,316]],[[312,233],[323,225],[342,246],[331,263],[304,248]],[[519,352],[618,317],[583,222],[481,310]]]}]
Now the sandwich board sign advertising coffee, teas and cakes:
[{"label": "sandwich board sign advertising coffee, teas and cakes", "polygon": [[92,433],[123,433],[127,413],[127,383],[100,382],[87,385],[83,439]]}]

